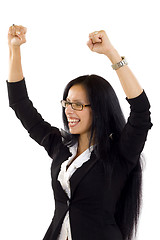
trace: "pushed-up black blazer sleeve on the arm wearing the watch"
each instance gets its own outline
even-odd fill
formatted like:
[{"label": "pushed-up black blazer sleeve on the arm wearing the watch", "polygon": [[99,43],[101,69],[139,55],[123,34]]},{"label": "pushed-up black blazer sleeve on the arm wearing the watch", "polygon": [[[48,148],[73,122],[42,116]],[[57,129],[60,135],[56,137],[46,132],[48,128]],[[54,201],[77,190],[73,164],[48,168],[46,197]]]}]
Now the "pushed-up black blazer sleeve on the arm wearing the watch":
[{"label": "pushed-up black blazer sleeve on the arm wearing the watch", "polygon": [[129,173],[136,166],[148,130],[153,124],[150,119],[150,103],[144,90],[138,97],[126,100],[130,104],[130,115],[120,136],[119,152]]}]

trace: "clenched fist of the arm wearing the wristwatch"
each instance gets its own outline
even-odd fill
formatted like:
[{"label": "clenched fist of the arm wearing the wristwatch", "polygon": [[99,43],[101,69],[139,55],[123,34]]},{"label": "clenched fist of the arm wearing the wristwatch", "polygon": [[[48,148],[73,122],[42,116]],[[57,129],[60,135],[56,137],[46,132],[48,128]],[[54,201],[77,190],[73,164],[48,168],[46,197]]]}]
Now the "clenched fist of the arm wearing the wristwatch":
[{"label": "clenched fist of the arm wearing the wristwatch", "polygon": [[87,46],[91,51],[105,55],[114,48],[104,30],[90,33]]}]

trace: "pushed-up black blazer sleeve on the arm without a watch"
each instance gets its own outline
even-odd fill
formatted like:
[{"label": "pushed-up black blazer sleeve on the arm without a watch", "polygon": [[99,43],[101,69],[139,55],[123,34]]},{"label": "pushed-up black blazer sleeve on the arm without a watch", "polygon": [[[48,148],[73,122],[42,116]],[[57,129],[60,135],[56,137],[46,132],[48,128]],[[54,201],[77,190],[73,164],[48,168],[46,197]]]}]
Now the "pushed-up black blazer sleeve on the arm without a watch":
[{"label": "pushed-up black blazer sleeve on the arm without a watch", "polygon": [[7,81],[7,88],[9,106],[15,111],[30,137],[43,146],[52,157],[55,147],[62,141],[59,129],[44,121],[37,112],[28,97],[25,79],[12,83]]}]

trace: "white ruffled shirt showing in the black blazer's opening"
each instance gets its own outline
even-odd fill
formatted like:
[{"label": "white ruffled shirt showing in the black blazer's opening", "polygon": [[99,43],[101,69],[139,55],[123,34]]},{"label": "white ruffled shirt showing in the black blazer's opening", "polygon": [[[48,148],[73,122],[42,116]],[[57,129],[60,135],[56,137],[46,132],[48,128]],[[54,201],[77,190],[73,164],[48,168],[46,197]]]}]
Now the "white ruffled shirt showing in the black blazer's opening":
[{"label": "white ruffled shirt showing in the black blazer's opening", "polygon": [[[72,156],[69,157],[65,162],[61,164],[61,170],[58,175],[58,181],[61,183],[62,188],[67,193],[68,197],[71,198],[71,189],[70,189],[70,178],[73,175],[73,173],[77,170],[77,168],[81,167],[83,163],[87,162],[90,159],[91,151],[93,150],[93,146],[88,148],[86,151],[84,151],[81,155],[79,155],[69,166],[69,168],[66,170],[67,165],[70,164],[72,159],[77,154],[77,146],[78,144],[75,144],[73,147],[69,148],[69,151],[72,153]],[[58,236],[57,240],[66,240],[68,237],[68,240],[72,240],[71,237],[71,228],[70,228],[70,220],[69,220],[69,211],[66,213],[66,216],[64,218],[62,228],[60,235]]]}]

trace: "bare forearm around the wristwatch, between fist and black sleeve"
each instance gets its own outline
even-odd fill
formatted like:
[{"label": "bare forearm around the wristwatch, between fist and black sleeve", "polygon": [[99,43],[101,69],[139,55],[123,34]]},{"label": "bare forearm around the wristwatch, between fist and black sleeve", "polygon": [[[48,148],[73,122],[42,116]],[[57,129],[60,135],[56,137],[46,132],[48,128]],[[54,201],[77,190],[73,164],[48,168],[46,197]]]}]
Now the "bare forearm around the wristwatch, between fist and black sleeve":
[{"label": "bare forearm around the wristwatch, between fist and black sleeve", "polygon": [[[118,63],[122,60],[121,56],[115,49],[110,50],[105,55],[110,59],[112,64]],[[143,89],[127,65],[117,69],[116,73],[127,98],[135,98],[142,93]]]}]

